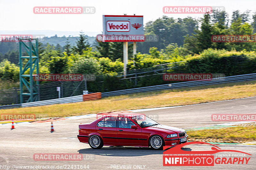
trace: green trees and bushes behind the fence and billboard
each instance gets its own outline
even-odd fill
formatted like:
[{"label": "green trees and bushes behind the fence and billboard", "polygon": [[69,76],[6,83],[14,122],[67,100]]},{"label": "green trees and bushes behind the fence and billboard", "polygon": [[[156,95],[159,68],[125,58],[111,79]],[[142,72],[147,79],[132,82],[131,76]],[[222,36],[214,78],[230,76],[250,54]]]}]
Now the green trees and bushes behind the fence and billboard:
[{"label": "green trees and bushes behind the fence and billboard", "polygon": [[[211,41],[211,36],[252,35],[255,32],[256,13],[251,15],[250,11],[244,13],[234,11],[231,19],[225,11],[206,13],[200,19],[191,17],[174,19],[163,16],[145,25],[145,35],[157,35],[158,42],[138,42],[136,56],[132,56],[132,44],[129,45],[130,55],[127,68],[128,70],[143,69],[186,60],[185,65],[178,65],[180,71],[184,73],[220,73],[220,68],[222,68],[221,73],[226,75],[254,73],[256,72],[253,69],[256,65],[255,43],[216,43]],[[1,80],[19,80],[17,54],[17,51],[0,54]],[[125,89],[133,86],[130,82],[119,83],[120,87],[113,86],[113,82],[120,82],[115,76],[123,71],[122,42],[103,43],[95,40],[92,45],[88,43],[84,33],[80,32],[75,46],[71,45],[68,40],[64,47],[55,47],[50,44],[44,46],[39,43],[39,58],[41,74],[96,74],[99,76],[98,80],[107,85],[91,82],[94,85],[89,84],[89,87],[91,86],[92,89],[98,87],[94,90],[109,91],[113,88]],[[165,83],[159,77],[154,80],[149,78],[140,80],[137,87]]]}]

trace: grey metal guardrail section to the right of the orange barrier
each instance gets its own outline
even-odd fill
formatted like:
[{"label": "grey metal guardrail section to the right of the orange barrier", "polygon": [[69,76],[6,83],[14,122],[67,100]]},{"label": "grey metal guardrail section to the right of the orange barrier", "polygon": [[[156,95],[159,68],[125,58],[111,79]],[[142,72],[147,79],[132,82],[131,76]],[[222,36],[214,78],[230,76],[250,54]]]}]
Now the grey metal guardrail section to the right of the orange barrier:
[{"label": "grey metal guardrail section to the right of the orange barrier", "polygon": [[232,83],[232,82],[240,82],[240,81],[250,81],[250,80],[256,80],[255,73],[214,78],[209,81],[202,81],[202,80],[201,81],[185,81],[180,83],[170,83],[170,84],[148,86],[148,87],[141,87],[141,88],[135,88],[135,89],[111,91],[111,92],[101,93],[101,96],[107,97],[107,96],[124,95],[124,94],[131,94],[131,93],[137,93],[137,92],[156,91],[156,90],[162,90],[162,89],[178,89],[178,88],[184,88],[184,87],[207,86],[207,85],[213,85],[213,84],[223,84],[223,83]]}]

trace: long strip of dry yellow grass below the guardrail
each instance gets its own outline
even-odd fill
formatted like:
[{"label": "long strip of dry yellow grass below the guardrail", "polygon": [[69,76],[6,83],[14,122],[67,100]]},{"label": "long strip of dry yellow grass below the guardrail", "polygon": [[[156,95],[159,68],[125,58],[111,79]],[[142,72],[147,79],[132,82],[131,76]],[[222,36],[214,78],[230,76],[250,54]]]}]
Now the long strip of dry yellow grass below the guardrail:
[{"label": "long strip of dry yellow grass below the guardrail", "polygon": [[68,117],[117,110],[179,106],[256,96],[256,81],[106,97],[95,101],[1,110],[1,114]]}]

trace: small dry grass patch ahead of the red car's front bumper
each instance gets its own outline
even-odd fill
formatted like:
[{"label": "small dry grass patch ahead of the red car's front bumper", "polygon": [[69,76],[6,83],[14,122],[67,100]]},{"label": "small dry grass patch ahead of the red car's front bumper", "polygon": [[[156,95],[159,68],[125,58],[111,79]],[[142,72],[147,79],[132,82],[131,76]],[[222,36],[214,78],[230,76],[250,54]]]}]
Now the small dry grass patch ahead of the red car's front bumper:
[{"label": "small dry grass patch ahead of the red car's front bumper", "polygon": [[188,131],[189,141],[243,143],[256,140],[256,124],[250,126],[230,127]]}]

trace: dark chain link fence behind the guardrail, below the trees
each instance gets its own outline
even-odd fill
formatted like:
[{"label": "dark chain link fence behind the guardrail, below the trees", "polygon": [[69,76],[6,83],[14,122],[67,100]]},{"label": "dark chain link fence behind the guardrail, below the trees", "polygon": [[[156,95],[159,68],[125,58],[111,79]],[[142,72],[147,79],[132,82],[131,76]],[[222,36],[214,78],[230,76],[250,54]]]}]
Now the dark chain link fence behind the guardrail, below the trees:
[{"label": "dark chain link fence behind the guardrail, below the trees", "polygon": [[[57,87],[60,87],[60,98],[78,96],[83,94],[83,90],[93,92],[109,92],[115,90],[132,89],[136,87],[146,87],[151,85],[160,85],[168,82],[162,80],[164,73],[179,73],[183,67],[180,65],[162,65],[143,69],[134,69],[127,71],[126,77],[123,73],[117,73],[116,76],[98,75],[96,81],[53,81],[46,83],[40,82],[34,85],[38,91],[38,101],[51,100],[59,98]],[[29,93],[24,86],[23,93]],[[20,89],[0,90],[0,105],[26,103],[29,96],[23,95],[23,101],[20,102]]]}]

